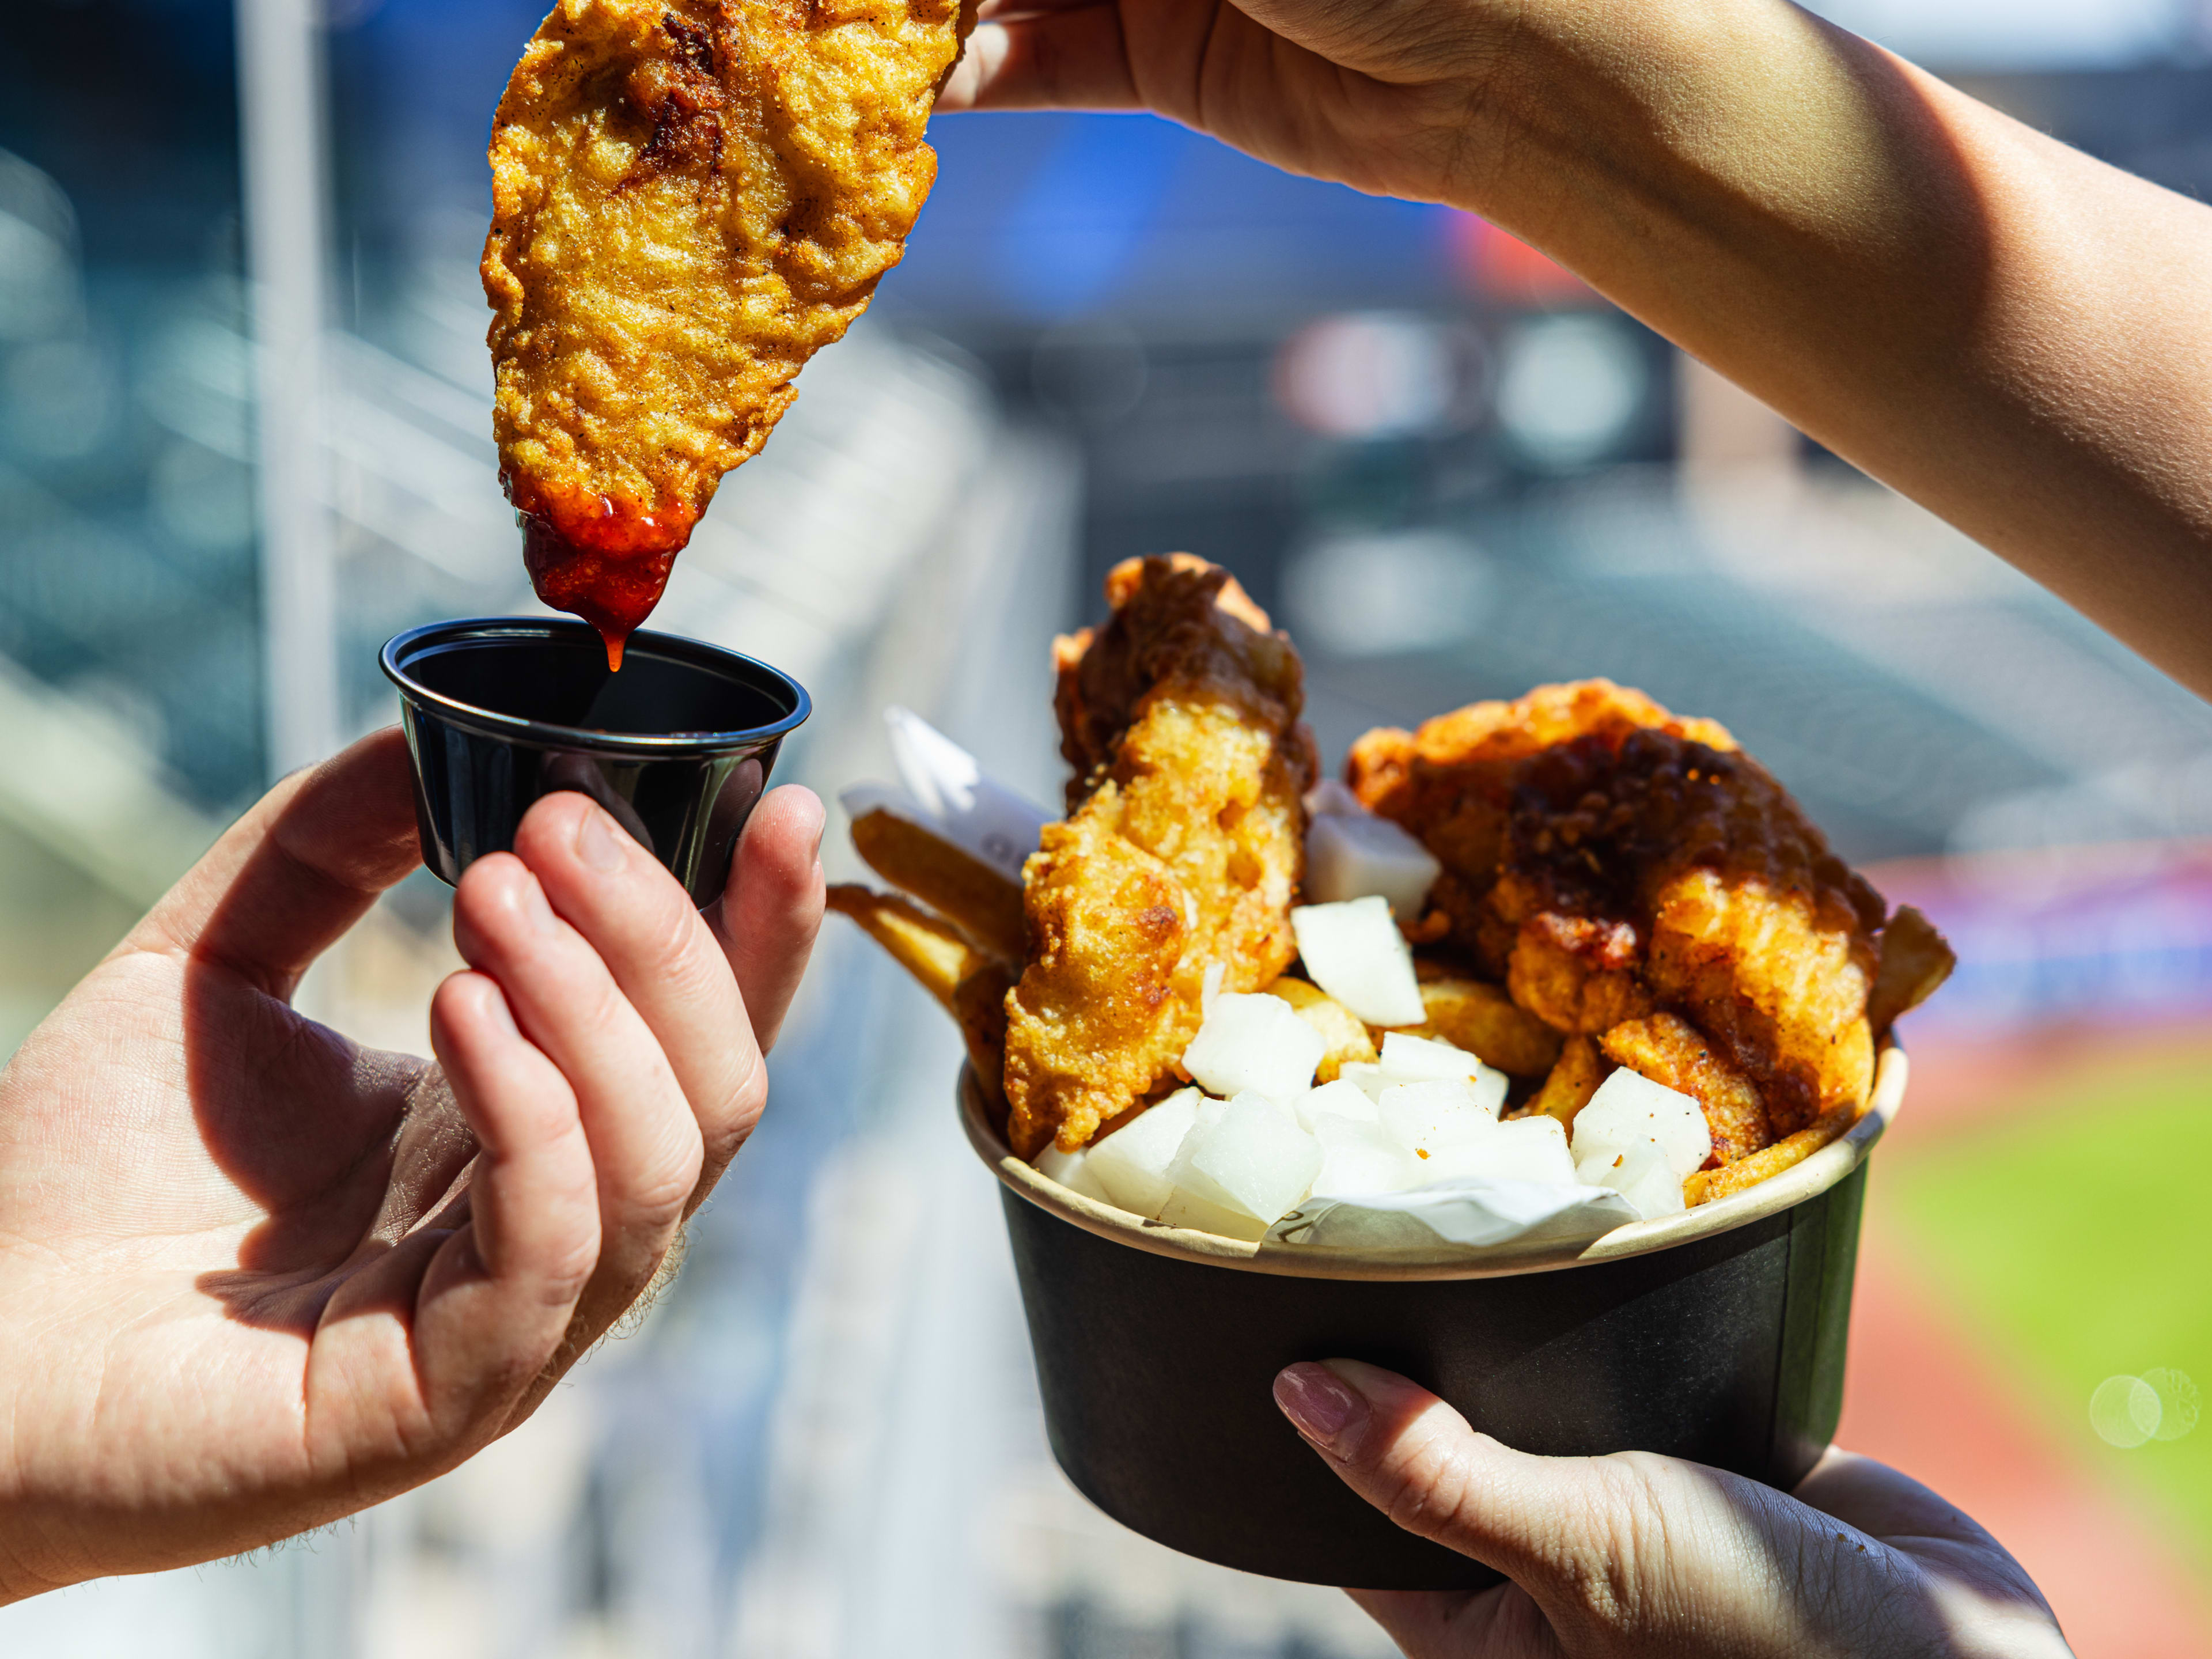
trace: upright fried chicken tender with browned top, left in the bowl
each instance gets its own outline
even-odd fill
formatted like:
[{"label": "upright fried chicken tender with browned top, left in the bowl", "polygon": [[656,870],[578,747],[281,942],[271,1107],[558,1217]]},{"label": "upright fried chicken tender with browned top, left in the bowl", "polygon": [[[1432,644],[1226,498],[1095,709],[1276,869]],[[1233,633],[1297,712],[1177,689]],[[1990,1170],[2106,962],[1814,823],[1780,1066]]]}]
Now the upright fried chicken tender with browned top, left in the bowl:
[{"label": "upright fried chicken tender with browned top, left in the bowl", "polygon": [[1029,967],[1006,998],[1009,1141],[1084,1146],[1170,1082],[1225,991],[1296,956],[1312,734],[1303,666],[1225,571],[1130,560],[1113,619],[1055,646],[1071,816],[1022,869]]}]

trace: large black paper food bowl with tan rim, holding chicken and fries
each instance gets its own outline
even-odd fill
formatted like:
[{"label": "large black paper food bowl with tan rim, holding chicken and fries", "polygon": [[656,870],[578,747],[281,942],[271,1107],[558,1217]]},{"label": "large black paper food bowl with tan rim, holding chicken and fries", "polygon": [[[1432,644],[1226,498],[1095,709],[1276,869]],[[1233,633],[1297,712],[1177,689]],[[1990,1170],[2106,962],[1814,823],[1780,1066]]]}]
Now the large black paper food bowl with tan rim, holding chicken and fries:
[{"label": "large black paper food bowl with tan rim, holding chicken and fries", "polygon": [[1276,1371],[1371,1360],[1522,1451],[1659,1451],[1787,1491],[1843,1409],[1865,1157],[1902,1097],[1891,1046],[1867,1115],[1796,1168],[1590,1245],[1467,1267],[1144,1221],[1013,1157],[975,1075],[960,1077],[1068,1480],[1186,1555],[1367,1590],[1500,1577],[1329,1473],[1276,1409]]}]

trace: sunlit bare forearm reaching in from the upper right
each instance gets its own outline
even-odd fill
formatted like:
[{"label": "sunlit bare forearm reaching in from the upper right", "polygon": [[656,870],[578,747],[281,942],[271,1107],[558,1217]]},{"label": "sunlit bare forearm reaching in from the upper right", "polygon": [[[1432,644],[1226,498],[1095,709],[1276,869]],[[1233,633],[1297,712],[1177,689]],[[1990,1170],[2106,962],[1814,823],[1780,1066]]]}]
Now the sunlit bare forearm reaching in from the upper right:
[{"label": "sunlit bare forearm reaching in from the upper right", "polygon": [[2212,692],[2212,210],[1783,0],[1500,62],[1460,206]]}]

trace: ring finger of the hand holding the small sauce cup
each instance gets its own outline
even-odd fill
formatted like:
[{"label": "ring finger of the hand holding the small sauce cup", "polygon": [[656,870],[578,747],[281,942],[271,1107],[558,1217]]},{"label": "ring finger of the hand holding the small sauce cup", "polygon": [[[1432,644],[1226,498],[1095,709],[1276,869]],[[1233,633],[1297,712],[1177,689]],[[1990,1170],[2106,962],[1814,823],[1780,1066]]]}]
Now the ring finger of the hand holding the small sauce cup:
[{"label": "ring finger of the hand holding the small sauce cup", "polygon": [[553,914],[520,858],[469,865],[453,891],[453,945],[498,980],[522,1035],[575,1091],[602,1234],[580,1314],[611,1321],[653,1276],[699,1181],[690,1104],[606,962]]}]

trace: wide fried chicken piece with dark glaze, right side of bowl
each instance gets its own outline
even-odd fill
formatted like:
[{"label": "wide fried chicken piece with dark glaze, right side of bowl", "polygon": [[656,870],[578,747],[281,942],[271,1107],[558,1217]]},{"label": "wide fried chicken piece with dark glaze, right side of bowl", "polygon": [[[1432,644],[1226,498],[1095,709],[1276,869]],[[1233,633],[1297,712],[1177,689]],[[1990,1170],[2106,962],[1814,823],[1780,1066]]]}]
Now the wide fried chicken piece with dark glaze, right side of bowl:
[{"label": "wide fried chicken piece with dark glaze, right side of bowl", "polygon": [[[1659,1079],[1717,1117],[1723,1161],[1863,1108],[1876,1037],[1951,964],[1918,914],[1885,931],[1882,898],[1723,728],[1610,681],[1369,732],[1347,776],[1444,863],[1451,945],[1555,1031],[1681,1077]],[[1710,1053],[1692,1066],[1686,1044]]]}]

